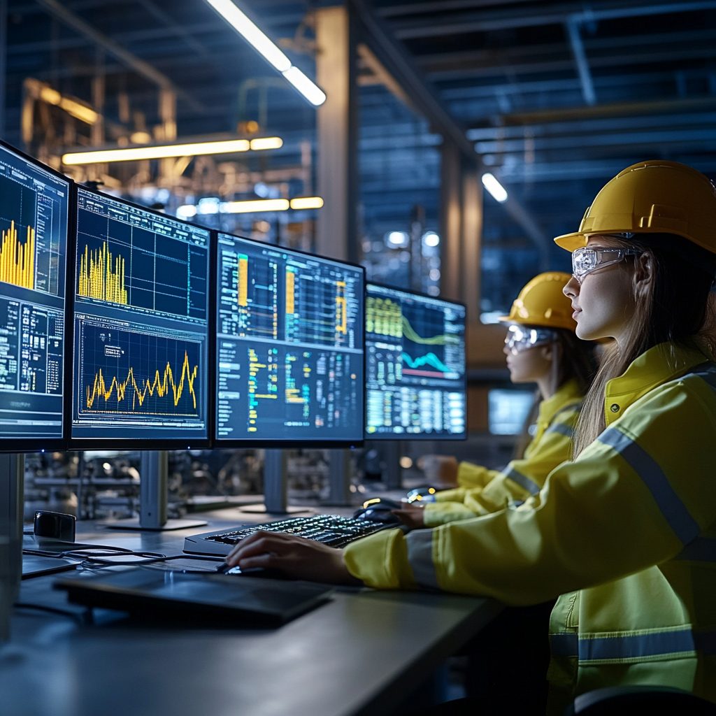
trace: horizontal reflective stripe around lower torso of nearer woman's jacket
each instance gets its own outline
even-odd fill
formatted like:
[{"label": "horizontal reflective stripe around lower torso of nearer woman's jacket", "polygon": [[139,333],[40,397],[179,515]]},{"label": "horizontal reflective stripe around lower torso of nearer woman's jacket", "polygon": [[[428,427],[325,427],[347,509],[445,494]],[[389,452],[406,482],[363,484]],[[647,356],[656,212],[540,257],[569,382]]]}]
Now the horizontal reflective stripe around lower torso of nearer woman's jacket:
[{"label": "horizontal reflective stripe around lower torso of nearer woman's jacket", "polygon": [[619,637],[579,639],[579,661],[601,659],[639,659],[664,654],[695,652],[694,635],[690,628],[650,634],[624,634]]}]

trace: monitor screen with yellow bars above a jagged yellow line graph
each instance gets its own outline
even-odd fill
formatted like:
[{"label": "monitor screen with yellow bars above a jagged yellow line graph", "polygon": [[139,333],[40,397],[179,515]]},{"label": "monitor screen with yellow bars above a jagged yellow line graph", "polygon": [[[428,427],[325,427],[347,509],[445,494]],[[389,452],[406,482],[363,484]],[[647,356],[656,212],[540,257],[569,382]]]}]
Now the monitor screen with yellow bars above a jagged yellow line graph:
[{"label": "monitor screen with yellow bars above a jagged yellow line graph", "polygon": [[77,188],[70,445],[208,445],[211,232]]}]

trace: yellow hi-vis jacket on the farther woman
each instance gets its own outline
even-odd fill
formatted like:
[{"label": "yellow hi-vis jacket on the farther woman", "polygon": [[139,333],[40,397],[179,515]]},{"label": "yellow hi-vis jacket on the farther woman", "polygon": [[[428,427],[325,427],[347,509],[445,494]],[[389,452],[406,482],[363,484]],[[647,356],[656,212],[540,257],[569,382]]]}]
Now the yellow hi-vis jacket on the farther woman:
[{"label": "yellow hi-vis jacket on the farther woman", "polygon": [[523,503],[543,487],[547,475],[572,456],[572,430],[579,417],[582,395],[576,380],[568,380],[539,406],[536,432],[524,458],[512,460],[502,471],[460,463],[455,490],[436,493],[425,505],[428,527],[467,520]]}]

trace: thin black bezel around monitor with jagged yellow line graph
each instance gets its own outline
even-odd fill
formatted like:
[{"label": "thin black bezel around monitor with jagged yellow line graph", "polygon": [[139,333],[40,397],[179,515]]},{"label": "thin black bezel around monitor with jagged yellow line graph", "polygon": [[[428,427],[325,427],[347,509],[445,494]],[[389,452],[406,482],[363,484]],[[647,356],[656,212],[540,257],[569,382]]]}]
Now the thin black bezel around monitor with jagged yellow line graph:
[{"label": "thin black bezel around monitor with jagged yellow line graph", "polygon": [[[211,357],[212,357],[212,346],[211,346],[211,337],[212,337],[212,319],[213,319],[213,294],[216,291],[216,284],[214,281],[213,272],[211,271],[212,261],[214,257],[214,252],[216,251],[216,230],[208,228],[208,226],[201,226],[201,224],[194,223],[193,221],[184,221],[183,219],[176,218],[175,216],[170,216],[169,214],[162,213],[161,211],[157,211],[156,209],[151,209],[147,206],[142,206],[141,204],[138,204],[134,201],[129,201],[124,198],[117,198],[116,196],[112,196],[111,194],[105,194],[99,190],[95,190],[92,188],[89,188],[87,186],[84,186],[82,184],[74,184],[74,193],[73,193],[73,200],[72,200],[72,210],[74,212],[73,214],[73,220],[74,225],[72,226],[72,236],[74,237],[74,241],[72,243],[72,291],[70,296],[70,306],[69,306],[69,335],[70,339],[72,340],[72,364],[69,365],[69,385],[72,387],[72,392],[69,396],[69,400],[65,401],[65,414],[66,414],[66,420],[65,423],[67,425],[67,448],[69,450],[97,450],[100,447],[102,450],[205,450],[207,448],[211,448],[211,435],[213,431],[213,422],[212,422],[212,416],[213,416],[213,395],[214,395],[214,387],[213,387],[213,376],[211,374],[211,369],[207,369],[207,388],[208,388],[208,397],[206,402],[206,410],[208,412],[206,416],[206,425],[207,425],[207,437],[203,439],[188,439],[188,440],[178,440],[175,438],[163,438],[161,440],[158,439],[149,439],[149,440],[137,440],[137,438],[134,437],[72,437],[72,415],[74,413],[73,410],[73,400],[74,400],[74,286],[75,286],[75,271],[77,271],[77,253],[76,253],[76,244],[77,244],[77,195],[79,190],[82,189],[90,194],[95,194],[103,199],[111,199],[113,201],[120,201],[121,203],[127,204],[129,206],[132,206],[134,208],[140,209],[141,211],[146,211],[147,213],[154,214],[155,216],[158,216],[160,218],[169,218],[172,221],[178,221],[178,223],[183,223],[188,226],[194,226],[195,228],[200,228],[202,231],[208,231],[209,233],[209,252],[208,252],[208,306],[207,306],[207,331],[208,331],[208,340],[207,340],[207,351],[208,351],[208,364],[211,366]],[[68,271],[68,279],[69,279],[70,272]],[[209,368],[209,366],[208,366]],[[189,444],[188,444],[189,443]]]}]

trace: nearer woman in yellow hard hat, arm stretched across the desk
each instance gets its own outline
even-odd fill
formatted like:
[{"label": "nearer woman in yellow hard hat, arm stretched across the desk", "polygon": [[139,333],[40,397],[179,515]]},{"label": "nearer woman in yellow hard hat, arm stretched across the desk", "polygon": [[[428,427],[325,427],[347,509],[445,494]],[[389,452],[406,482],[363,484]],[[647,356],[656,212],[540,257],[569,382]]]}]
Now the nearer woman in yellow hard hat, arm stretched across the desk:
[{"label": "nearer woman in yellow hard hat, arm stretched across the desk", "polygon": [[[228,563],[377,589],[536,604],[550,624],[548,712],[590,690],[652,684],[716,702],[716,190],[650,161],[612,179],[579,231],[566,294],[577,335],[615,340],[584,402],[575,458],[516,508],[342,551],[256,533]],[[516,678],[521,662],[514,654]]]}]

